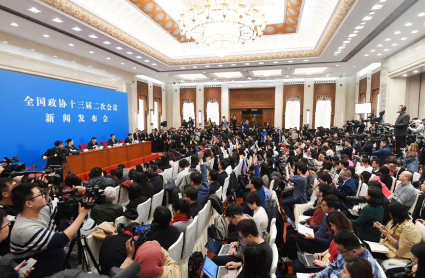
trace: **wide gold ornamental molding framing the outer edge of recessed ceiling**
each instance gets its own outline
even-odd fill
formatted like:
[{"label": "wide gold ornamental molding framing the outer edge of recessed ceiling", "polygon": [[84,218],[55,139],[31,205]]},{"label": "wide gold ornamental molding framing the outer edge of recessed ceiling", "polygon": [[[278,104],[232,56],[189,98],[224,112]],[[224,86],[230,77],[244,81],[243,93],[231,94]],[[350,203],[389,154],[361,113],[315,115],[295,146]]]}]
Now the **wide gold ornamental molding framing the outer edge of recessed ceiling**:
[{"label": "wide gold ornamental molding framing the outer edge of recessed ceiling", "polygon": [[182,66],[182,65],[196,65],[196,64],[215,64],[226,62],[246,62],[258,60],[276,60],[276,59],[295,59],[318,57],[324,51],[325,47],[329,44],[332,37],[335,35],[339,25],[344,21],[350,9],[353,7],[357,0],[341,0],[336,7],[330,22],[325,28],[323,35],[320,37],[314,50],[308,51],[287,51],[276,53],[264,54],[248,54],[248,55],[233,55],[221,57],[206,57],[206,58],[189,58],[189,59],[171,59],[168,56],[160,53],[154,48],[142,43],[136,38],[130,36],[126,32],[116,28],[112,24],[101,20],[81,7],[71,3],[67,0],[41,0],[51,7],[83,22],[99,31],[129,45],[135,49],[157,59],[158,61],[168,66]]}]

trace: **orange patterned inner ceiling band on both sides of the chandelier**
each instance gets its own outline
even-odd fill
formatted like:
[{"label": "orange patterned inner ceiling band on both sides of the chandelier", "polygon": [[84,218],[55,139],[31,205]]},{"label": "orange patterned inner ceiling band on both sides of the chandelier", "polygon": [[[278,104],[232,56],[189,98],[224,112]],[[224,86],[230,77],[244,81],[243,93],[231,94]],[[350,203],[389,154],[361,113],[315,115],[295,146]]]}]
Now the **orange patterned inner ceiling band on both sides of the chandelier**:
[{"label": "orange patterned inner ceiling band on both sides of the chandelier", "polygon": [[[150,17],[162,29],[174,37],[180,43],[194,42],[187,41],[180,35],[179,24],[155,2],[155,0],[131,0],[131,2],[140,9],[145,15]],[[266,25],[263,35],[291,34],[295,33],[298,23],[301,20],[301,6],[303,0],[288,0],[286,8],[286,23],[276,23]],[[283,11],[285,12],[285,11]]]}]

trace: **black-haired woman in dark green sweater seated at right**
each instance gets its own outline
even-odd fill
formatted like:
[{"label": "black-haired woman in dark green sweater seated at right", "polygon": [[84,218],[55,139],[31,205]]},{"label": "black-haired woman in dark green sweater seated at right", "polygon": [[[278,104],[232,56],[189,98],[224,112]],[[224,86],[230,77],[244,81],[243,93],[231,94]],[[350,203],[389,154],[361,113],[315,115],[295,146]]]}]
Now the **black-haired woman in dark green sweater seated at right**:
[{"label": "black-haired woman in dark green sweater seated at right", "polygon": [[378,188],[369,187],[367,189],[366,205],[360,210],[358,218],[351,220],[351,224],[357,227],[358,238],[361,240],[380,242],[381,234],[373,227],[373,224],[375,222],[382,223],[384,198],[382,191]]}]

